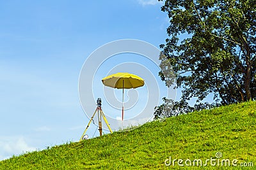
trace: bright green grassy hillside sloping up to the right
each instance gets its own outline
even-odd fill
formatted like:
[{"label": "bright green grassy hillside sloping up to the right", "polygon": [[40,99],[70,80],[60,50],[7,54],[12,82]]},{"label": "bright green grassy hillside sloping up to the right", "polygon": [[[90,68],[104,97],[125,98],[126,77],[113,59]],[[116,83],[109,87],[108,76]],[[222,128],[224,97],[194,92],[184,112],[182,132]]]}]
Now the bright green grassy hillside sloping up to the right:
[{"label": "bright green grassy hillside sloping up to the right", "polygon": [[[256,103],[232,104],[154,121],[132,131],[67,143],[0,162],[0,169],[172,169],[164,160],[237,159],[254,167],[178,166],[175,169],[256,169]],[[221,161],[221,159],[219,159]],[[187,162],[188,163],[188,162]],[[184,164],[184,162],[183,162]]]}]

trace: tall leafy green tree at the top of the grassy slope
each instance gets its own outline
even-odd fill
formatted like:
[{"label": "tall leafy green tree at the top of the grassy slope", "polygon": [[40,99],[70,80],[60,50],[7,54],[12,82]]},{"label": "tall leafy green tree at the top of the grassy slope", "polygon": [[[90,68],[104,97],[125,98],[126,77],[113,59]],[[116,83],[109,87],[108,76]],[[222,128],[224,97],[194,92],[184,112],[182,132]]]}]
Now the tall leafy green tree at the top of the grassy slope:
[{"label": "tall leafy green tree at the top of the grassy slope", "polygon": [[200,103],[209,94],[216,104],[256,98],[255,0],[166,0],[161,10],[170,26],[160,47],[183,89],[182,102],[197,97]]}]

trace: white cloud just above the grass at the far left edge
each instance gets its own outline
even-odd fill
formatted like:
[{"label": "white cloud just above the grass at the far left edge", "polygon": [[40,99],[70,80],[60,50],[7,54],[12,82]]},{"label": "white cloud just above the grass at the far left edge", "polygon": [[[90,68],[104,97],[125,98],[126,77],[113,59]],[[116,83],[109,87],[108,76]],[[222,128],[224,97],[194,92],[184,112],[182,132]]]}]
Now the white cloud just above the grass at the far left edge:
[{"label": "white cloud just above the grass at the far left edge", "polygon": [[8,159],[12,155],[20,155],[26,152],[35,151],[36,148],[29,146],[23,137],[7,137],[0,141],[0,160]]}]

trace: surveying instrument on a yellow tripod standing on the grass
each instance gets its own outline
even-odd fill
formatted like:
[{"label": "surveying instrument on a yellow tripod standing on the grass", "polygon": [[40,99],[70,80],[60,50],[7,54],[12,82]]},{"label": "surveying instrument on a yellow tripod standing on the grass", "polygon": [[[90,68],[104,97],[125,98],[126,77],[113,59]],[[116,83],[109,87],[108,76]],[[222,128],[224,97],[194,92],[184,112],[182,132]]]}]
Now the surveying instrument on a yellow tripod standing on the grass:
[{"label": "surveying instrument on a yellow tripod standing on the grass", "polygon": [[[104,115],[104,113],[103,113],[103,111],[102,111],[102,109],[101,109],[101,99],[98,98],[98,99],[97,99],[97,108],[96,108],[96,110],[94,111],[94,113],[93,113],[93,115],[92,115],[92,118],[90,119],[90,121],[89,121],[89,123],[88,123],[86,129],[84,130],[84,133],[83,133],[83,135],[81,136],[81,138],[80,138],[79,141],[82,141],[82,140],[84,139],[84,134],[85,134],[85,132],[87,131],[87,129],[88,129],[89,125],[91,124],[91,122],[93,121],[93,117],[95,116],[96,112],[98,113],[97,115],[98,115],[98,120],[99,120],[99,132],[100,132],[100,136],[102,136],[102,122],[101,122],[101,117],[103,117],[103,119],[104,119],[106,125],[108,126],[109,131],[110,131],[111,133],[113,133],[112,130],[111,130],[111,128],[110,128],[110,126],[109,126],[109,124],[108,124],[108,120],[107,120],[107,118],[105,117],[105,115]],[[87,138],[88,138],[88,136],[87,136]],[[85,139],[87,139],[87,138],[85,138]]]}]

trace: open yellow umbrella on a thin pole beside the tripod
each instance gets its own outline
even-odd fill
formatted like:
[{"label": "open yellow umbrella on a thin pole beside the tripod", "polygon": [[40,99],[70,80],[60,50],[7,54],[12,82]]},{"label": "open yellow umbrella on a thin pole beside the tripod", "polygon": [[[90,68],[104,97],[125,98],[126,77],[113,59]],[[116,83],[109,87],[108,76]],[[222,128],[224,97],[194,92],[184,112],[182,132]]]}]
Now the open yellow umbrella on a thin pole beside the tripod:
[{"label": "open yellow umbrella on a thin pole beside the tripod", "polygon": [[115,73],[102,79],[102,83],[108,87],[123,89],[122,120],[124,120],[124,89],[135,89],[144,85],[144,80],[131,73]]}]

